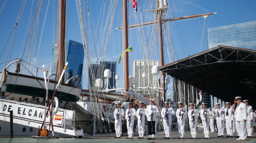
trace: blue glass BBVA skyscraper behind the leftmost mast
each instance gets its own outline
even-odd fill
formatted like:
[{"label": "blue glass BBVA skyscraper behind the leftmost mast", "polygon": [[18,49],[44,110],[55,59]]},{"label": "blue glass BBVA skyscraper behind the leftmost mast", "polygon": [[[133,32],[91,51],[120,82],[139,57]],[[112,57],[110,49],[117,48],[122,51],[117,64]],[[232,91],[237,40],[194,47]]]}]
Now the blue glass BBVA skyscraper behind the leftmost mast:
[{"label": "blue glass BBVA skyscraper behind the leftmost mast", "polygon": [[[59,44],[54,43],[52,48],[52,72],[56,72],[57,61],[58,61],[58,51]],[[65,44],[65,61],[68,62],[68,66],[65,71],[65,78],[71,78],[75,75],[78,75],[78,81],[75,85],[82,86],[82,70],[84,62],[84,49],[83,44],[78,43],[73,40],[67,40]],[[71,84],[73,80],[69,82]],[[81,82],[81,83],[80,83]]]}]

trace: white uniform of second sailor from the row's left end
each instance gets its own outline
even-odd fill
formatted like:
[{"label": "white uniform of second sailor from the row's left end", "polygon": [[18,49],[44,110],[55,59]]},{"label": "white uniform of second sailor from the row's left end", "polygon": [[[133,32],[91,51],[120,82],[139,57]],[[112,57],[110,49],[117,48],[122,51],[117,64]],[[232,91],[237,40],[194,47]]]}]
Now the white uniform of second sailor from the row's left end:
[{"label": "white uniform of second sailor from the row's left end", "polygon": [[[130,111],[130,113],[129,113]],[[134,125],[134,117],[136,116],[136,110],[134,108],[128,108],[125,112],[126,126],[128,138],[133,137],[133,125]]]}]

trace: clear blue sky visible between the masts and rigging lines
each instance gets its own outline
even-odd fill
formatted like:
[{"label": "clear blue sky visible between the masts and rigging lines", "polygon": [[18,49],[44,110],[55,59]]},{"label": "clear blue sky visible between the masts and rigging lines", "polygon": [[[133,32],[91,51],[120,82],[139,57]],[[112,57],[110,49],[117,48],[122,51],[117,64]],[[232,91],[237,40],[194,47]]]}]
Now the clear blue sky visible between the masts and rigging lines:
[{"label": "clear blue sky visible between the masts and rigging lines", "polygon": [[[5,0],[0,0],[0,6],[2,6]],[[106,9],[108,9],[108,4],[110,0],[88,0],[89,1],[89,10],[92,19],[92,27],[95,30],[98,17],[101,10],[101,5],[105,2]],[[2,53],[5,44],[9,38],[9,35],[12,32],[13,26],[18,16],[18,12],[21,7],[21,0],[8,0],[2,13],[0,14],[0,52]],[[45,16],[45,11],[47,8],[47,0],[44,1],[43,5],[43,12],[40,16],[41,23],[38,25],[39,29],[43,27],[43,20]],[[128,2],[128,24],[134,24],[135,21],[133,20],[133,14],[145,14],[145,16],[151,16],[153,14],[149,14],[148,11],[144,11],[146,8],[144,7],[149,0],[138,0],[138,12],[134,12],[132,9],[132,5]],[[35,10],[35,3],[32,11]],[[84,3],[84,1],[82,1]],[[86,3],[86,1],[85,1]],[[243,23],[248,21],[255,21],[256,20],[256,1],[255,0],[168,0],[169,9],[168,9],[168,17],[172,18],[175,16],[188,16],[193,14],[202,14],[208,12],[217,12],[216,15],[210,16],[205,21],[204,19],[191,19],[191,20],[183,20],[183,21],[172,21],[169,22],[170,31],[171,31],[171,38],[173,42],[173,48],[175,49],[175,59],[182,59],[189,55],[196,54],[199,51],[205,51],[208,49],[207,45],[207,28],[213,28],[218,26],[225,26],[230,24],[236,23]],[[193,3],[193,4],[189,4]],[[195,6],[196,5],[196,6]],[[17,31],[17,35],[15,37],[13,52],[11,59],[20,58],[22,49],[24,48],[24,43],[26,42],[26,31],[27,26],[29,25],[29,15],[32,6],[32,0],[27,0],[25,5],[24,12],[21,17],[21,21],[19,23],[19,28]],[[87,8],[86,8],[87,10]],[[122,47],[122,31],[116,30],[115,28],[122,26],[122,1],[119,0],[118,6],[115,12],[114,17],[114,24],[112,27],[112,34],[110,37],[110,42],[108,45],[108,51],[106,55],[106,60],[109,61],[118,61],[119,55],[123,51]],[[46,69],[50,70],[50,66],[52,65],[52,44],[57,40],[57,2],[50,1],[49,9],[46,17],[46,22],[44,25],[44,32],[43,37],[39,49],[39,55],[37,59],[36,66],[40,67],[45,64]],[[114,13],[114,12],[113,12]],[[104,18],[104,17],[100,17]],[[55,20],[53,20],[55,19]],[[145,18],[143,22],[147,21],[149,18]],[[88,20],[88,19],[87,19]],[[30,23],[31,24],[31,23]],[[88,26],[88,23],[87,23]],[[204,29],[203,29],[204,27]],[[150,29],[150,28],[149,28]],[[180,34],[178,29],[181,30]],[[204,31],[204,32],[203,32]],[[130,75],[132,75],[132,63],[134,59],[143,59],[142,57],[142,49],[139,47],[139,39],[137,35],[137,30],[132,29],[129,30],[129,45],[133,45],[133,52],[130,53]],[[202,37],[203,34],[203,37]],[[156,32],[158,35],[158,32]],[[35,40],[35,48],[36,51],[37,47],[39,47],[39,37],[41,36],[41,30],[37,31],[36,40]],[[99,35],[101,36],[101,35]],[[164,35],[165,36],[165,35]],[[153,49],[153,56],[152,60],[158,60],[158,37],[156,36],[156,47]],[[68,0],[68,23],[67,23],[67,39],[72,39],[77,42],[82,43],[81,32],[79,27],[78,21],[78,14],[76,9],[76,2],[75,0]],[[91,38],[89,38],[91,39]],[[202,41],[201,50],[200,44]],[[182,42],[181,42],[182,41]],[[184,42],[185,41],[185,42]],[[92,44],[92,43],[90,43]],[[186,45],[186,46],[185,46]],[[165,52],[165,64],[170,63],[169,56],[167,54],[168,46],[164,42],[164,52]],[[9,43],[5,49],[9,49]],[[34,51],[34,53],[36,53]],[[6,55],[8,50],[4,50],[3,55],[0,57],[0,63],[4,63],[6,61]],[[32,63],[33,59],[35,59],[35,54],[31,56]],[[0,69],[4,67],[5,64],[0,65]],[[123,64],[117,64],[117,74],[120,75],[119,85],[121,86],[123,83]],[[39,73],[39,76],[42,74]],[[87,78],[84,77],[83,80],[83,88],[87,88]],[[172,85],[169,85],[169,91],[172,91]]]}]

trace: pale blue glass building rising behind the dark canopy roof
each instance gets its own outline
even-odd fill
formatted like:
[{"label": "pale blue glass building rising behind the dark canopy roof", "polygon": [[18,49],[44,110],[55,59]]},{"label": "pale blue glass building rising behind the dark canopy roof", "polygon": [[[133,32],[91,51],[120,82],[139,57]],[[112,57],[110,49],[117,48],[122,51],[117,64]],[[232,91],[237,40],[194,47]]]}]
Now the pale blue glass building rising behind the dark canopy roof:
[{"label": "pale blue glass building rising behind the dark canopy roof", "polygon": [[208,28],[208,49],[218,45],[256,49],[256,21]]}]

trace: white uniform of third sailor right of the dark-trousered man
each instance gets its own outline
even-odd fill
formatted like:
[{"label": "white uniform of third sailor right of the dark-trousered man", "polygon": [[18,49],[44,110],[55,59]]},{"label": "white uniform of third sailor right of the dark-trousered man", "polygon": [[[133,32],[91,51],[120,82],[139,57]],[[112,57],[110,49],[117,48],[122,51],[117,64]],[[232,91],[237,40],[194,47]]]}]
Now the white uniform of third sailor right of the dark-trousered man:
[{"label": "white uniform of third sailor right of the dark-trousered man", "polygon": [[196,109],[188,110],[189,127],[192,138],[196,138],[197,135],[197,117],[199,117],[199,113]]}]

